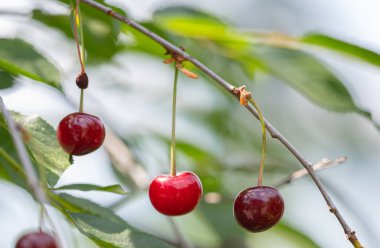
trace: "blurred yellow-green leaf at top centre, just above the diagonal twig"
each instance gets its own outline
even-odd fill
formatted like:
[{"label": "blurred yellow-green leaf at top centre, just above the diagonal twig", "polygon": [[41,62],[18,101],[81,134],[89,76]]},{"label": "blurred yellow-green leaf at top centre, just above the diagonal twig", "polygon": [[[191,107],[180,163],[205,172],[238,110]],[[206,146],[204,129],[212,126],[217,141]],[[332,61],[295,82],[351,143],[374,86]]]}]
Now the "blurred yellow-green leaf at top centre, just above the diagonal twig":
[{"label": "blurred yellow-green leaf at top centre, just above the diagonal twig", "polygon": [[153,20],[170,34],[174,44],[183,45],[200,61],[207,61],[207,66],[226,80],[252,80],[257,65],[247,56],[251,47],[249,36],[233,25],[188,7],[158,10]]}]

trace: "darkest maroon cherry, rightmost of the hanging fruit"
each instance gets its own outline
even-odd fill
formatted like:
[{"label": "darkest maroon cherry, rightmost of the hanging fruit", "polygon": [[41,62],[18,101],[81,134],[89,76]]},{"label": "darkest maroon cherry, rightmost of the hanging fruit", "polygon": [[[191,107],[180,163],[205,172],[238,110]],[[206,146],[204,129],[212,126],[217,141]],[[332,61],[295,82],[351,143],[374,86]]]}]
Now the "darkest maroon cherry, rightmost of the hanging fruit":
[{"label": "darkest maroon cherry, rightmost of the hanging fruit", "polygon": [[251,232],[262,232],[276,225],[284,213],[280,192],[268,186],[247,188],[234,203],[236,221]]}]

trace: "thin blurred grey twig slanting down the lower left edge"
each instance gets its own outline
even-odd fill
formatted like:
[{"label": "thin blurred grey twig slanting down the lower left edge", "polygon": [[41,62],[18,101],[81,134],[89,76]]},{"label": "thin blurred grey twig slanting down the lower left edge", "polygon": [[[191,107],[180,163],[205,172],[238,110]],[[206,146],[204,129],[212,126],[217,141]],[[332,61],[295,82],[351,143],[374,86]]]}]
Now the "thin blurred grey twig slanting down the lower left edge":
[{"label": "thin blurred grey twig slanting down the lower left edge", "polygon": [[[28,182],[28,185],[30,189],[33,192],[33,195],[36,197],[37,201],[40,203],[41,208],[44,210],[46,217],[49,218],[48,212],[45,209],[45,205],[48,204],[47,197],[45,195],[44,190],[42,189],[38,176],[36,171],[33,168],[32,162],[29,158],[28,152],[25,148],[25,145],[22,141],[22,138],[20,136],[20,133],[17,129],[16,123],[10,116],[8,110],[5,108],[3,98],[0,96],[0,111],[3,114],[6,122],[8,123],[8,127],[10,130],[10,134],[12,136],[12,140],[14,142],[14,145],[16,147],[17,154],[20,158],[21,165],[24,167],[25,174],[27,175],[26,180]],[[53,225],[53,222],[51,222]],[[54,226],[53,226],[54,228]],[[60,239],[58,237],[58,233],[54,233],[54,236],[56,237],[56,241],[58,244],[60,244]],[[59,245],[60,247],[60,245]]]}]

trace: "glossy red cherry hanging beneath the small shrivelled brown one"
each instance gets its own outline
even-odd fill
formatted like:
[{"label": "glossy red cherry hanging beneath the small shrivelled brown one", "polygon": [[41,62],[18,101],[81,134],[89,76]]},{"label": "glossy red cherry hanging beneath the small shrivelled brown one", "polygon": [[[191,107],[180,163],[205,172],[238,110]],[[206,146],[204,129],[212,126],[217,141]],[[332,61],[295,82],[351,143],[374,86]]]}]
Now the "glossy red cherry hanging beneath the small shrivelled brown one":
[{"label": "glossy red cherry hanging beneath the small shrivelled brown one", "polygon": [[104,141],[102,121],[86,113],[72,113],[58,124],[57,138],[63,150],[71,155],[85,155],[98,149]]}]

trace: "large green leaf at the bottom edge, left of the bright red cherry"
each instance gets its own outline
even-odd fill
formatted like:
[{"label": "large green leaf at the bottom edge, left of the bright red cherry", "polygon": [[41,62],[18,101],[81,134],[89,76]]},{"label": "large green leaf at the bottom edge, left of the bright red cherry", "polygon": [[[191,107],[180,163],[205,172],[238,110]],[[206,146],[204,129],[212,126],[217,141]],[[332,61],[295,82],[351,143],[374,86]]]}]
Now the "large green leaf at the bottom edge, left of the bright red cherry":
[{"label": "large green leaf at the bottom edge, left of the bright red cherry", "polygon": [[100,247],[170,247],[162,240],[136,230],[112,211],[94,202],[68,194],[60,194],[59,201],[69,205],[66,214],[71,217],[79,231]]}]

